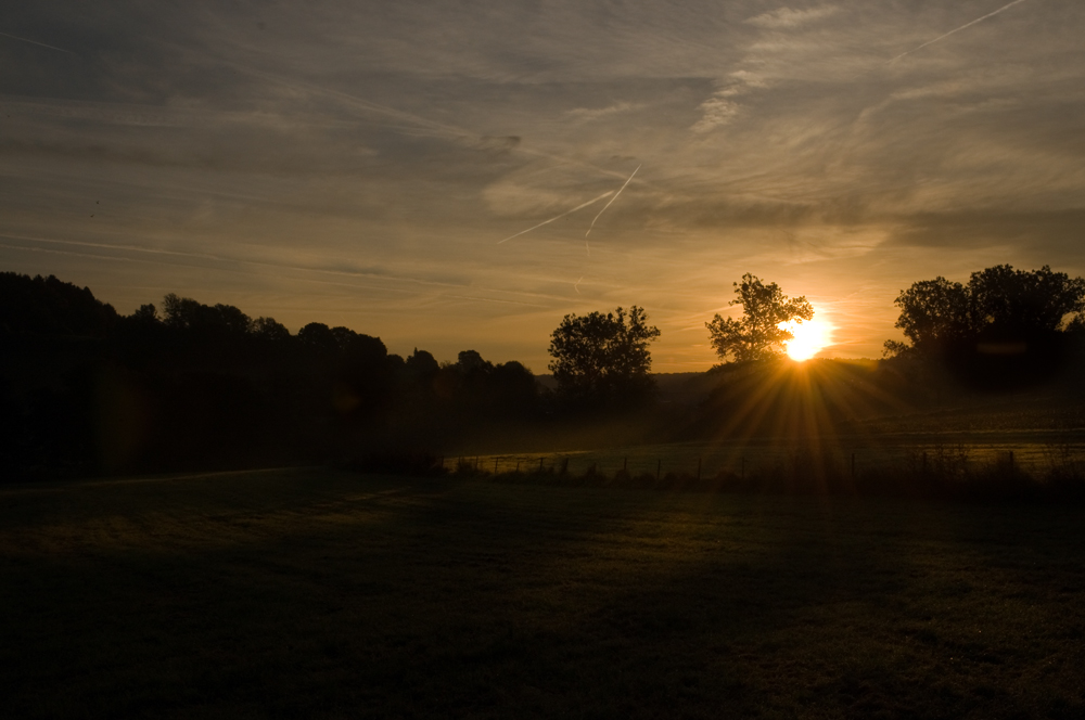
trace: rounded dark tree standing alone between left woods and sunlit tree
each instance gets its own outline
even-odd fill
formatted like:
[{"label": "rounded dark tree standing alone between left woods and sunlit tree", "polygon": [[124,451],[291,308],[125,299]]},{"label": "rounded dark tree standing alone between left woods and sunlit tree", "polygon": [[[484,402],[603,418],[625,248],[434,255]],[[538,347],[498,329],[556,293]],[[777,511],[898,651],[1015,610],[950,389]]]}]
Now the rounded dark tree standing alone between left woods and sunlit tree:
[{"label": "rounded dark tree standing alone between left woods and sunlit tree", "polygon": [[635,402],[651,390],[652,356],[660,336],[636,305],[602,314],[567,314],[550,336],[548,368],[566,398],[592,404]]}]

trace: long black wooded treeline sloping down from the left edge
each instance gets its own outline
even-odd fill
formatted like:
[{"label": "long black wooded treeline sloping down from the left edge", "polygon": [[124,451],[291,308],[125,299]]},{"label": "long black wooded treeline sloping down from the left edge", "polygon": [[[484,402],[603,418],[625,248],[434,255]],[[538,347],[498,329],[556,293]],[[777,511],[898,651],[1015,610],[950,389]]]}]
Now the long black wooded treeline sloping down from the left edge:
[{"label": "long black wooded treeline sloping down from the left edge", "polygon": [[438,448],[544,412],[531,371],[439,363],[379,337],[296,334],[167,295],[123,316],[54,277],[0,273],[0,473],[9,479],[329,462]]}]

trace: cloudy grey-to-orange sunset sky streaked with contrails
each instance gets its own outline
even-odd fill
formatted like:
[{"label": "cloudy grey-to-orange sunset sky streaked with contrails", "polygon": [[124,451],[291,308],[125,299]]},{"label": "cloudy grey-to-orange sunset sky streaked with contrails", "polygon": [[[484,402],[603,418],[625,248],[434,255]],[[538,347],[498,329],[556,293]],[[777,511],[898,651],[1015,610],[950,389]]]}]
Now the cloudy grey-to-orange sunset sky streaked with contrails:
[{"label": "cloudy grey-to-orange sunset sky streaked with contrails", "polygon": [[748,272],[840,358],[916,281],[1085,273],[1078,0],[0,3],[0,270],[123,313],[546,372],[639,305],[685,372]]}]

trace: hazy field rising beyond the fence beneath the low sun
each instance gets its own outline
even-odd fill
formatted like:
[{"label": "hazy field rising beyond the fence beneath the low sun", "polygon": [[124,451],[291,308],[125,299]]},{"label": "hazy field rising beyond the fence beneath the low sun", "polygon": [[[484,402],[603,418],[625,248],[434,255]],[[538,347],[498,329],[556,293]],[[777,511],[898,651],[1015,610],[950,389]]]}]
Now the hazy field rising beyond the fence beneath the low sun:
[{"label": "hazy field rising beyond the fence beneath the low sun", "polygon": [[[1012,464],[1036,477],[1052,471],[1085,474],[1085,404],[1076,385],[984,395],[905,384],[896,388],[897,397],[886,399],[890,396],[871,380],[877,372],[873,363],[818,361],[809,363],[809,370],[804,367],[784,365],[782,374],[738,368],[730,375],[658,375],[663,404],[656,424],[643,437],[623,439],[636,436],[647,424],[642,417],[629,417],[625,424],[612,419],[598,427],[571,425],[572,432],[554,433],[549,447],[536,442],[526,452],[464,450],[447,455],[446,467],[456,470],[462,462],[492,474],[564,467],[573,475],[593,467],[607,476],[625,468],[635,477],[659,474],[661,478],[668,473],[695,477],[700,468],[700,475],[709,478],[773,472],[814,450],[831,457],[845,476],[919,473],[924,454],[930,465],[952,455],[975,472]],[[720,378],[745,389],[729,402],[705,404]],[[810,387],[816,391],[812,394]],[[774,395],[776,390],[780,391]],[[760,400],[743,402],[742,393]],[[810,400],[814,396],[817,402]],[[814,422],[789,435],[794,428],[784,419],[821,416],[819,403],[830,398],[835,398],[834,420]],[[668,424],[680,428],[677,435],[687,436],[684,441],[658,441],[667,434]]]}]

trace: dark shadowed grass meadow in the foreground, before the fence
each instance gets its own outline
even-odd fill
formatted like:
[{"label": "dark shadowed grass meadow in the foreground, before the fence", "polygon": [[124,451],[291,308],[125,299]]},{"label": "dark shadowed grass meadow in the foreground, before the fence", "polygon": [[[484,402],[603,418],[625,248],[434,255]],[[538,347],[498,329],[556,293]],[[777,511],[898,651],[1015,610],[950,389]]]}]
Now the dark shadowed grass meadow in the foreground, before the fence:
[{"label": "dark shadowed grass meadow in the foreground, before the fence", "polygon": [[324,470],[0,490],[5,717],[1085,713],[1080,509]]}]

